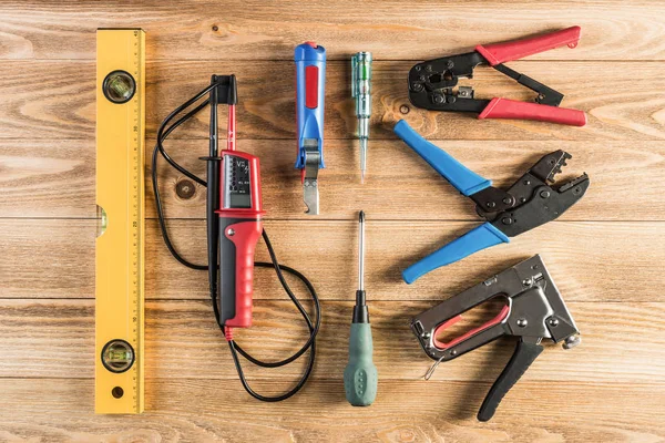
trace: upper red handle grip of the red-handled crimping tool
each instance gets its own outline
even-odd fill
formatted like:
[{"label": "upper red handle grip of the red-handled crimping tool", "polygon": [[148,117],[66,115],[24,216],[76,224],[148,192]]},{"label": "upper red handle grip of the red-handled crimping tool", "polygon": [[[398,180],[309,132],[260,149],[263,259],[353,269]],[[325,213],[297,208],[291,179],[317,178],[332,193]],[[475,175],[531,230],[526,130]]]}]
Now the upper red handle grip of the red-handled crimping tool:
[{"label": "upper red handle grip of the red-handled crimping tool", "polygon": [[580,27],[572,27],[549,34],[504,43],[479,44],[475,50],[488,60],[490,65],[519,60],[566,44],[575,48],[580,42]]}]

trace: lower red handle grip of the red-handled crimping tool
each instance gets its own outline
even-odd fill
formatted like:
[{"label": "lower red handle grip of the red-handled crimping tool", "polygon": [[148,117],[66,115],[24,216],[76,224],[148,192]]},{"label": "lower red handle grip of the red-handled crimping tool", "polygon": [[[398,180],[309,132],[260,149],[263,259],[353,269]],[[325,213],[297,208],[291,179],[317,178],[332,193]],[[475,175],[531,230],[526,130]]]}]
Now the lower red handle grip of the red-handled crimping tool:
[{"label": "lower red handle grip of the red-handled crimping tool", "polygon": [[584,126],[586,124],[586,114],[580,110],[518,102],[508,99],[492,99],[478,119],[535,120],[571,126]]}]

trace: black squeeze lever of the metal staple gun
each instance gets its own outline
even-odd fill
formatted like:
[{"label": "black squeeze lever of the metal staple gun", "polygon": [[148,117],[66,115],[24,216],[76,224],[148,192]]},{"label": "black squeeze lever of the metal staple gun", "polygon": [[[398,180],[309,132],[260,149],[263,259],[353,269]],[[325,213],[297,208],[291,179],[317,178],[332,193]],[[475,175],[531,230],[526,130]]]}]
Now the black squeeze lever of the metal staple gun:
[{"label": "black squeeze lever of the metal staple gun", "polygon": [[494,384],[492,384],[492,388],[490,388],[490,392],[488,392],[488,395],[478,411],[479,421],[487,422],[494,415],[503,396],[518,380],[520,380],[542,351],[543,347],[540,344],[525,342],[523,340],[518,341],[512,358],[503,369],[503,372],[501,372],[501,375],[499,375]]}]

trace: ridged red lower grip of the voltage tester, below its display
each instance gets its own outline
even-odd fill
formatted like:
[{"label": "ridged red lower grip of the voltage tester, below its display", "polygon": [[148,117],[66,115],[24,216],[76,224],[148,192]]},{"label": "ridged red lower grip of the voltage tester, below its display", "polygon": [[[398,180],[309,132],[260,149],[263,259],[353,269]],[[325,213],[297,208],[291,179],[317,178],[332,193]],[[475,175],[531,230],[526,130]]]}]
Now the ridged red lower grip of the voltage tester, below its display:
[{"label": "ridged red lower grip of the voltage tester, below its display", "polygon": [[[233,229],[234,235],[228,231]],[[254,250],[260,233],[263,223],[259,220],[247,220],[236,223],[226,227],[224,235],[236,247],[236,315],[226,320],[224,326],[234,328],[249,328],[252,326],[252,307],[254,293]]]}]

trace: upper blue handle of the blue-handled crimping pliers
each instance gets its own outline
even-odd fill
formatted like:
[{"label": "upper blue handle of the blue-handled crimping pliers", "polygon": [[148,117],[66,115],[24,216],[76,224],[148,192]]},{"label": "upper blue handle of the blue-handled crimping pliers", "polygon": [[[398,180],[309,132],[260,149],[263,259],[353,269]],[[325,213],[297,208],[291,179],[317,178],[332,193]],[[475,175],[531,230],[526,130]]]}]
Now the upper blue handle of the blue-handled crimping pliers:
[{"label": "upper blue handle of the blue-handled crimping pliers", "polygon": [[422,138],[403,120],[397,122],[393,131],[398,137],[446,177],[462,195],[468,197],[492,185],[492,181],[475,174],[446,151]]}]

